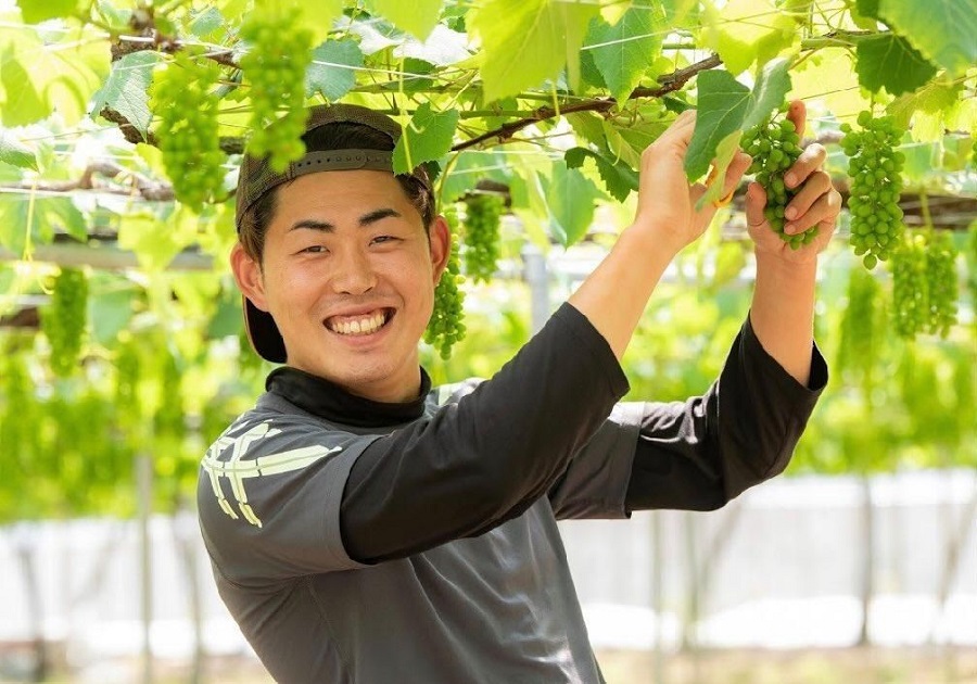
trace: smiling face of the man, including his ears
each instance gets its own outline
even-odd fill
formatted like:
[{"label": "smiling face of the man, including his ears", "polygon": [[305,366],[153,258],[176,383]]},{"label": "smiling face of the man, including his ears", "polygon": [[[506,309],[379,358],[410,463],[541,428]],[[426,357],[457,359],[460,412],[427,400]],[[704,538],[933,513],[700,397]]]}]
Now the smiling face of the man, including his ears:
[{"label": "smiling face of the man, including his ears", "polygon": [[353,394],[417,396],[417,344],[447,258],[443,218],[430,240],[392,174],[320,172],[279,187],[262,267],[240,245],[239,286],[275,318],[288,365]]}]

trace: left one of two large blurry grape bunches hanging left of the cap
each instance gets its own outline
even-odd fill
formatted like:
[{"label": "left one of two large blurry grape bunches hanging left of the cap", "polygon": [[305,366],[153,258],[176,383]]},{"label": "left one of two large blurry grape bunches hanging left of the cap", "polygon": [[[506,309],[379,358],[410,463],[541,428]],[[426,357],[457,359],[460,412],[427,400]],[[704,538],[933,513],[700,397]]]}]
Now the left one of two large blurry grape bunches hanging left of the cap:
[{"label": "left one of two large blurry grape bunches hanging left of the cap", "polygon": [[216,63],[185,53],[153,76],[152,106],[163,166],[176,199],[200,213],[224,188],[225,161],[217,129]]}]

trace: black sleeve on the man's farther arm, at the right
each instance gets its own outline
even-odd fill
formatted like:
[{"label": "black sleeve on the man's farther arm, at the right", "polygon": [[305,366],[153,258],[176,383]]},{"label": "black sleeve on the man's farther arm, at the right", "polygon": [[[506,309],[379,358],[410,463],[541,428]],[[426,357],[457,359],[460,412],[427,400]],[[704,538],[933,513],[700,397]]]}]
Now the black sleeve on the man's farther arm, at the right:
[{"label": "black sleeve on the man's farther arm, at the right", "polygon": [[800,384],[766,353],[747,318],[706,394],[645,404],[626,510],[711,510],[782,472],[827,376],[814,346],[810,381]]}]

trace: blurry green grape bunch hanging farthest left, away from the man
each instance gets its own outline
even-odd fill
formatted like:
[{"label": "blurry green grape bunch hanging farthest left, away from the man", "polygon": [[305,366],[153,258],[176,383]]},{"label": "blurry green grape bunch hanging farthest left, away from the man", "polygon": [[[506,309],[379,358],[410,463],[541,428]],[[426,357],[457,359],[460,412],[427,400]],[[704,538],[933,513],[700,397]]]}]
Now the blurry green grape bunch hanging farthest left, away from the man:
[{"label": "blurry green grape bunch hanging farthest left, away from the man", "polygon": [[78,367],[88,317],[88,279],[77,268],[62,268],[51,303],[41,312],[41,329],[51,345],[51,370],[66,378]]}]

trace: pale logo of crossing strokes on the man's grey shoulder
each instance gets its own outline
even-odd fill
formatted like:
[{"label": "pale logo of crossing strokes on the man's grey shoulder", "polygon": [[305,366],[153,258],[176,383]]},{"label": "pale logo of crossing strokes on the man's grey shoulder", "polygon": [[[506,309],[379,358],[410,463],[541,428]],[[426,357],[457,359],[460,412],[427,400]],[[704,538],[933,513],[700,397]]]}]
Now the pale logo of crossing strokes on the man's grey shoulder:
[{"label": "pale logo of crossing strokes on the man's grey shoulder", "polygon": [[[267,422],[262,422],[238,436],[232,438],[221,435],[214,442],[211,448],[207,449],[201,465],[211,478],[211,486],[214,487],[214,495],[217,497],[217,503],[220,504],[220,509],[234,520],[238,519],[238,514],[224,495],[224,489],[220,486],[220,478],[227,478],[230,482],[231,493],[233,494],[238,508],[240,509],[241,515],[244,516],[244,519],[251,524],[259,528],[262,527],[262,521],[248,503],[248,493],[244,491],[244,480],[301,470],[329,454],[342,451],[342,447],[340,446],[329,448],[327,446],[315,444],[312,446],[289,449],[279,454],[258,456],[257,458],[243,458],[252,444],[258,440],[274,436],[279,432],[281,432],[281,430],[270,428]],[[219,456],[226,453],[228,448],[233,449],[230,458],[220,460]]]}]

